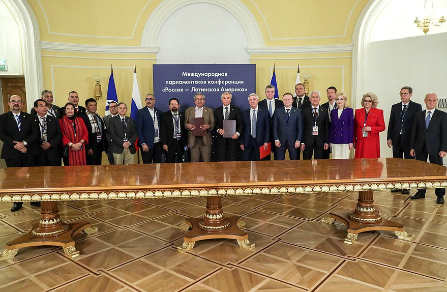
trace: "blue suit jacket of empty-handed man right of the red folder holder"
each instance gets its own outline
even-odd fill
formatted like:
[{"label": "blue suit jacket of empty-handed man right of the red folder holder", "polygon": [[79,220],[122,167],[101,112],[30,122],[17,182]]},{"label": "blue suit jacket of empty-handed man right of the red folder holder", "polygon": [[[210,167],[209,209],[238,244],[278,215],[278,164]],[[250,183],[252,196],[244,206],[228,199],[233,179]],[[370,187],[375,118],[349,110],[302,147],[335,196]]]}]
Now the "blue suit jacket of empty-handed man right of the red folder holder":
[{"label": "blue suit jacket of empty-handed man right of the red folder holder", "polygon": [[293,107],[290,109],[289,121],[286,122],[286,111],[284,108],[275,110],[273,114],[273,139],[279,140],[281,146],[293,147],[295,141],[303,139],[303,116],[301,110]]}]

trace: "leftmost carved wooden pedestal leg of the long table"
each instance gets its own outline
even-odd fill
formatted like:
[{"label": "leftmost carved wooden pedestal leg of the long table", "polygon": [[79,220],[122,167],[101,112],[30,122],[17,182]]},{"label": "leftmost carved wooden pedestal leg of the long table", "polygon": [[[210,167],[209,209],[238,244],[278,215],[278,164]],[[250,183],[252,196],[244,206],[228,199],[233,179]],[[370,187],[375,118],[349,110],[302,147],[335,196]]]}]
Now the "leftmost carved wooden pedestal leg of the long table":
[{"label": "leftmost carved wooden pedestal leg of the long table", "polygon": [[33,225],[31,231],[6,243],[0,260],[14,257],[19,248],[31,246],[54,245],[64,248],[67,256],[75,257],[79,251],[75,248],[73,236],[83,230],[86,234],[97,232],[88,222],[64,223],[59,217],[57,202],[41,202],[41,218],[39,224]]}]

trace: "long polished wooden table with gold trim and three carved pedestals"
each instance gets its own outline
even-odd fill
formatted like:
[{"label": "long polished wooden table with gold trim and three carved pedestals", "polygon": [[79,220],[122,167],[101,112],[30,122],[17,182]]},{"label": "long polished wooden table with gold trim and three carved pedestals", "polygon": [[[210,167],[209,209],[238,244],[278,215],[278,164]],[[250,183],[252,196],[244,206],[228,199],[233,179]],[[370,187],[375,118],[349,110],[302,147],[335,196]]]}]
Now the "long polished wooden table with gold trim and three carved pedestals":
[{"label": "long polished wooden table with gold trim and three carved pedestals", "polygon": [[359,202],[349,214],[332,214],[323,222],[340,220],[348,227],[346,243],[369,230],[392,230],[411,240],[402,224],[380,217],[374,208],[374,190],[447,186],[447,168],[417,160],[395,158],[298,161],[247,161],[23,167],[0,169],[2,202],[42,201],[41,219],[32,230],[8,242],[0,260],[18,248],[62,246],[68,256],[79,255],[73,234],[96,232],[88,222],[64,223],[57,201],[144,199],[154,197],[206,197],[203,218],[188,218],[181,227],[191,229],[178,251],[186,252],[199,240],[236,239],[253,249],[239,217],[226,218],[222,196],[359,191]]}]

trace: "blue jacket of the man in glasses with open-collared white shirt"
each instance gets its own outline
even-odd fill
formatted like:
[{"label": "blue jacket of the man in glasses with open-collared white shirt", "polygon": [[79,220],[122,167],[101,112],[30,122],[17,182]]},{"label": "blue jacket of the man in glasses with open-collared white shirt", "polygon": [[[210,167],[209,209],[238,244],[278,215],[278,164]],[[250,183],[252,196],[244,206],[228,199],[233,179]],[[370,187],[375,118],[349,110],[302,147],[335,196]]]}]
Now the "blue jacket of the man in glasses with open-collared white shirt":
[{"label": "blue jacket of the man in glasses with open-collared white shirt", "polygon": [[[162,111],[154,107],[155,114],[157,115],[158,122],[158,136],[161,134],[161,115]],[[155,127],[154,119],[149,112],[147,106],[137,111],[137,133],[138,133],[138,145],[146,143],[147,147],[154,148]]]}]

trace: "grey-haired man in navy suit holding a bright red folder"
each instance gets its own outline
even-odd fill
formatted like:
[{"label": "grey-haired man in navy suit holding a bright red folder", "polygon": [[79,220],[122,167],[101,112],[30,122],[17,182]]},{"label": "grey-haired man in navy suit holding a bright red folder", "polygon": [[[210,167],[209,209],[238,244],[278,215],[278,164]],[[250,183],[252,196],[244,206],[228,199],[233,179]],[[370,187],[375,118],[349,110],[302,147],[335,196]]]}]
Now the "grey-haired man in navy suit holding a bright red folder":
[{"label": "grey-haired man in navy suit holding a bright red folder", "polygon": [[270,141],[270,118],[269,112],[258,106],[259,97],[252,93],[248,96],[250,108],[242,112],[244,133],[240,141],[241,149],[244,151],[244,161],[260,160],[259,148],[267,150]]}]

